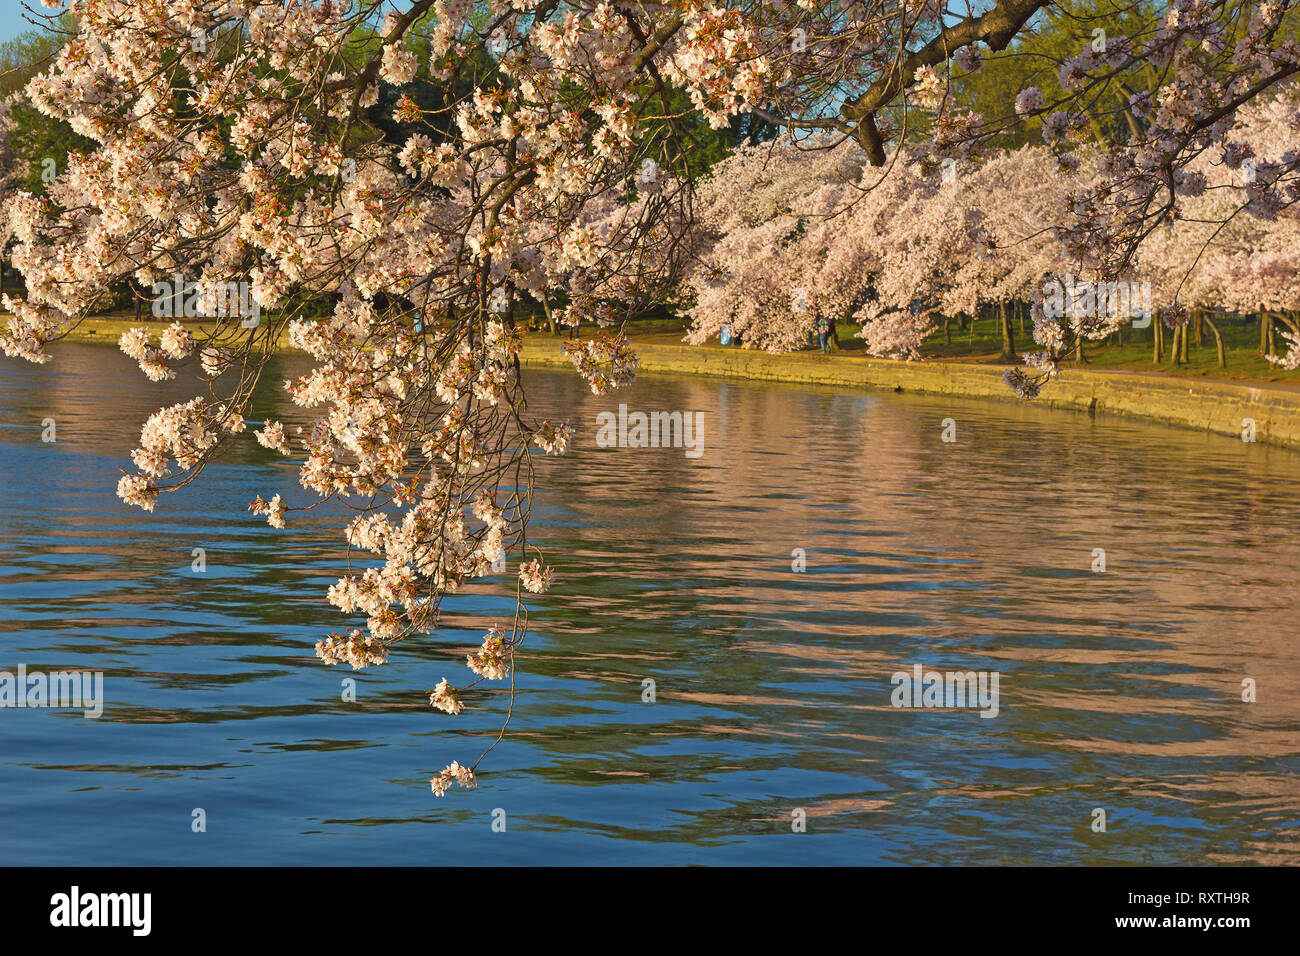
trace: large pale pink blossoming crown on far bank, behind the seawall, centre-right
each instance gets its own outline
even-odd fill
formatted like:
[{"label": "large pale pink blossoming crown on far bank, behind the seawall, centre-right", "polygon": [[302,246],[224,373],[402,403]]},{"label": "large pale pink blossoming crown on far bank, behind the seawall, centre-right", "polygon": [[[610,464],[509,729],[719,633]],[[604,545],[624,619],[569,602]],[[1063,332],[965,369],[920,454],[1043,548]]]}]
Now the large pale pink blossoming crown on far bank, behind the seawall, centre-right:
[{"label": "large pale pink blossoming crown on far bank, behind the seawall, centre-right", "polygon": [[868,354],[919,358],[936,315],[1030,299],[1062,267],[1056,166],[1043,147],[887,170],[853,142],[738,150],[699,191],[688,341],[731,324],[777,351],[828,313],[859,321]]}]

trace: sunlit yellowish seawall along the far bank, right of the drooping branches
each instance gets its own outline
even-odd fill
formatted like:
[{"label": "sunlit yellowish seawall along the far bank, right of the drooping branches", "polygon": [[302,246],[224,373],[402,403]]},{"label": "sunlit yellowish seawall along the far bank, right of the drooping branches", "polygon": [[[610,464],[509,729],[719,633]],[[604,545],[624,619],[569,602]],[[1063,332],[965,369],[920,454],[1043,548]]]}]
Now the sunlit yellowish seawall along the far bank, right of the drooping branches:
[{"label": "sunlit yellowish seawall along the far bank, right of the drooping branches", "polygon": [[[770,355],[748,349],[636,342],[646,372],[715,375],[805,385],[838,385],[932,395],[965,395],[1019,402],[1002,384],[1002,365],[889,362],[855,355],[793,352]],[[572,367],[558,339],[532,337],[521,362]],[[1300,447],[1300,392],[1232,382],[1130,372],[1066,369],[1035,399],[1053,408],[1147,419],[1240,437],[1247,419],[1256,441]]]}]

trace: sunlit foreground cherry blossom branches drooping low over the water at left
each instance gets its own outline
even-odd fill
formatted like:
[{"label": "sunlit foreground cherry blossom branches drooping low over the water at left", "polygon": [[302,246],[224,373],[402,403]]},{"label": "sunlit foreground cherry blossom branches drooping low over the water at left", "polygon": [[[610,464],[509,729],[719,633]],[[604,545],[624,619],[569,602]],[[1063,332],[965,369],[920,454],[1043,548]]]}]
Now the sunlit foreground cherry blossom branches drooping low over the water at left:
[{"label": "sunlit foreground cherry blossom branches drooping low over the water at left", "polygon": [[[240,440],[260,369],[287,336],[316,362],[289,382],[302,420],[266,421],[256,440],[300,455],[308,490],[360,511],[348,545],[381,563],[329,597],[365,623],[317,646],[326,663],[354,667],[436,627],[443,597],[503,553],[521,562],[516,594],[550,587],[528,537],[534,459],[517,449],[563,453],[569,432],[528,416],[508,306],[554,298],[569,321],[608,320],[636,277],[671,259],[692,190],[671,174],[689,129],[670,91],[716,126],[746,109],[818,126],[841,104],[836,124],[876,142],[872,104],[894,83],[861,91],[900,49],[932,49],[942,14],[688,0],[72,0],[69,10],[75,33],[25,94],[96,146],[68,156],[48,202],[5,199],[27,294],[4,299],[13,319],[0,346],[47,360],[47,343],[126,280],[147,287],[186,272],[209,313],[229,284],[250,284],[265,310],[252,324],[218,315],[205,330],[122,337],[151,378],[185,365],[205,381],[146,423],[118,494],[152,510]],[[971,35],[1009,39],[1014,20],[984,16]],[[814,83],[810,69],[823,74]],[[463,92],[428,111],[403,95],[421,83]],[[385,96],[396,140],[373,113]],[[296,313],[304,294],[332,298],[333,315]],[[572,358],[595,392],[636,367],[618,332],[573,345]],[[291,520],[281,494],[252,509],[276,527]],[[471,662],[478,679],[511,669],[526,633],[517,607]],[[439,684],[430,702],[458,713],[460,691]],[[472,784],[474,767],[451,765],[434,791]]]}]

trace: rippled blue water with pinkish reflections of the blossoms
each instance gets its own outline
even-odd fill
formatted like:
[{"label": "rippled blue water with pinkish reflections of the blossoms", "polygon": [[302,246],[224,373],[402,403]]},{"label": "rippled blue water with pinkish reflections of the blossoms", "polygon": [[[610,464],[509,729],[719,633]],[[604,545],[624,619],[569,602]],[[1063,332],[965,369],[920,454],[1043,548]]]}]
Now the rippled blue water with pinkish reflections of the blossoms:
[{"label": "rippled blue water with pinkish reflections of the blossoms", "polygon": [[[0,669],[101,670],[107,697],[98,721],[0,710],[4,858],[1300,861],[1296,453],[1013,403],[526,375],[534,411],[578,427],[532,532],[559,579],[514,732],[438,800],[428,778],[482,752],[504,700],[450,718],[426,692],[468,683],[499,589],[390,665],[324,667],[339,520],[246,511],[306,501],[290,463],[250,437],[146,515],[118,470],[190,388],[96,346],[0,365]],[[619,402],[703,411],[703,457],[595,447]],[[255,412],[295,420],[277,388]],[[998,715],[890,706],[914,663],[997,671]]]}]

